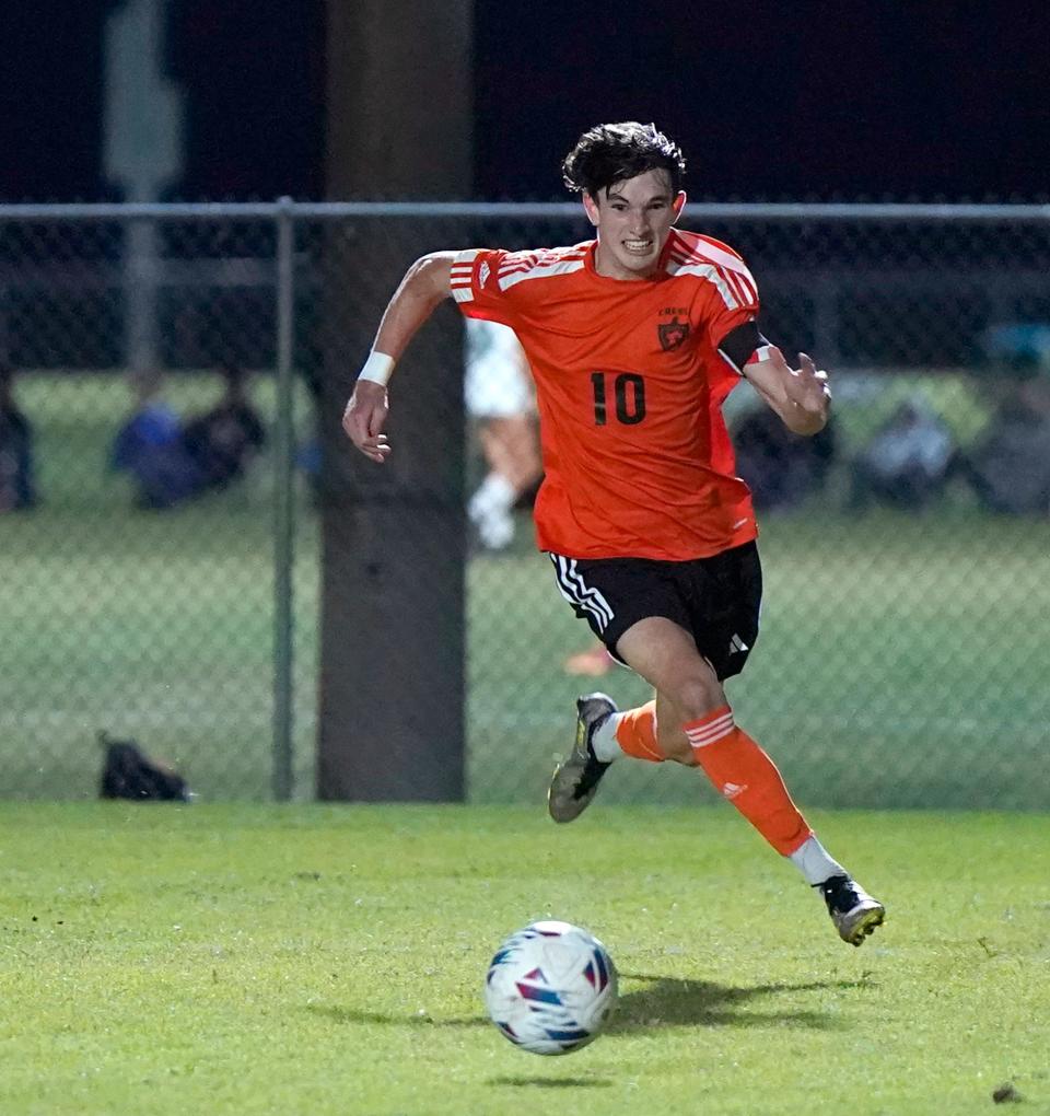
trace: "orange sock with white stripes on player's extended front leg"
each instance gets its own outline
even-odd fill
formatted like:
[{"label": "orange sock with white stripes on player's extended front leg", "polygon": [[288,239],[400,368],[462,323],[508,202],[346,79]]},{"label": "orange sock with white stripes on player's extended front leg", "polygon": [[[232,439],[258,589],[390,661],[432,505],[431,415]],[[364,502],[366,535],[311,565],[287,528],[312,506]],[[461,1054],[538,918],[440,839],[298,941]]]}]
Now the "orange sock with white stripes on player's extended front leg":
[{"label": "orange sock with white stripes on player's extended front leg", "polygon": [[790,856],[812,830],[791,801],[777,766],[733,721],[729,705],[683,725],[696,762],[720,795],[780,853]]}]

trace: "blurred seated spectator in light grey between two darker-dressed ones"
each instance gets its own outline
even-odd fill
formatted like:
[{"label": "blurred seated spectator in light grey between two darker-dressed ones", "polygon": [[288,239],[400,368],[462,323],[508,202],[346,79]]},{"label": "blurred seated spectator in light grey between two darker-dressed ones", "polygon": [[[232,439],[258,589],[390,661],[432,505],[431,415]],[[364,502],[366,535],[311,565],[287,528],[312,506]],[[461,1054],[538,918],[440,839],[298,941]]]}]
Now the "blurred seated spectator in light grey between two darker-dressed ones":
[{"label": "blurred seated spectator in light grey between two darker-dressed ones", "polygon": [[951,432],[925,401],[902,403],[854,462],[850,507],[926,507],[944,492],[954,452]]}]

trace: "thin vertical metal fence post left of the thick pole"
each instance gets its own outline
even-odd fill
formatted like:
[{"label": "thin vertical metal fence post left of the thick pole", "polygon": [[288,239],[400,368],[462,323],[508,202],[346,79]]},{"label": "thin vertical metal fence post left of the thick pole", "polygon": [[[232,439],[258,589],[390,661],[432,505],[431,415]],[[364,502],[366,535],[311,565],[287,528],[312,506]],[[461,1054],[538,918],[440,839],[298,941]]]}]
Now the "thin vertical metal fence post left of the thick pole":
[{"label": "thin vertical metal fence post left of the thick pole", "polygon": [[277,203],[277,419],[273,479],[273,797],[292,792],[292,566],[295,562],[292,359],[295,225],[290,198]]}]

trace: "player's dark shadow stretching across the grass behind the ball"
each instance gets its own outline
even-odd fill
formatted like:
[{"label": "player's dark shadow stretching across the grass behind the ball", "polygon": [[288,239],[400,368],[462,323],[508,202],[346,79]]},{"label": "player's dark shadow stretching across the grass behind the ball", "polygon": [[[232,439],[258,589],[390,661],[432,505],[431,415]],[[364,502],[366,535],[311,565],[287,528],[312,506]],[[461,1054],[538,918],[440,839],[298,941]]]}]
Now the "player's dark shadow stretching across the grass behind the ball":
[{"label": "player's dark shadow stretching across the grass behind the ball", "polygon": [[[809,1030],[831,1030],[841,1027],[820,1011],[746,1011],[735,1009],[763,997],[790,992],[818,992],[825,989],[867,987],[859,981],[813,981],[807,984],[757,984],[754,988],[729,988],[709,981],[651,977],[646,973],[622,973],[622,981],[637,981],[645,987],[625,992],[609,1023],[610,1035],[625,1035],[653,1027],[801,1027]],[[460,1019],[434,1019],[428,1014],[393,1016],[382,1011],[359,1011],[336,1004],[307,1004],[311,1014],[334,1023],[378,1023],[386,1027],[489,1027],[484,1016]],[[530,1079],[531,1080],[531,1079]],[[519,1084],[530,1084],[523,1080]],[[510,1084],[508,1079],[508,1084]]]}]

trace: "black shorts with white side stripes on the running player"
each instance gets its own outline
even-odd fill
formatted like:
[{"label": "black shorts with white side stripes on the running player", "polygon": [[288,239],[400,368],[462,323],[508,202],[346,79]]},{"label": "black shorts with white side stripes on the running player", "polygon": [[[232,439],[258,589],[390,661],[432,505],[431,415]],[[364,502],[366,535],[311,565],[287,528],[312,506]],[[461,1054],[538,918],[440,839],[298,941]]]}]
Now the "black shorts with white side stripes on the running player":
[{"label": "black shorts with white side stripes on the running player", "polygon": [[619,662],[617,641],[648,616],[690,632],[719,679],[740,674],[759,637],[762,565],[754,542],[691,561],[549,557],[561,595]]}]

